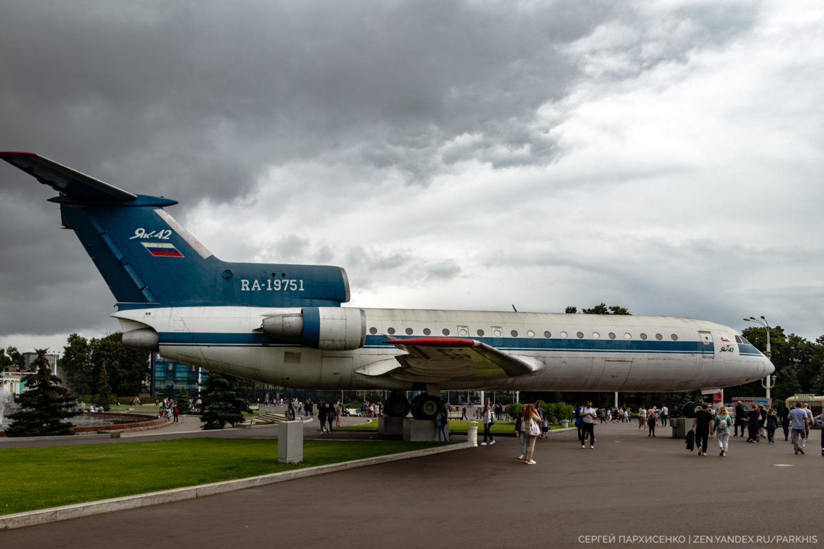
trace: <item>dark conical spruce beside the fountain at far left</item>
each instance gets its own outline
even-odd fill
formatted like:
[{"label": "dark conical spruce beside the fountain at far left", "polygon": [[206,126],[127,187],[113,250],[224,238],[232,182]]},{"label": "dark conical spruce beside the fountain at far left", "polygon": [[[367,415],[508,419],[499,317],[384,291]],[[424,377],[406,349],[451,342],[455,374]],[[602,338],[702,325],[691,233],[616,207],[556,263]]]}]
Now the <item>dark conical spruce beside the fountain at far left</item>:
[{"label": "dark conical spruce beside the fountain at far left", "polygon": [[62,420],[80,412],[74,411],[75,401],[68,390],[59,386],[63,380],[52,374],[45,357],[47,351],[37,350],[37,358],[31,363],[36,373],[26,378],[26,391],[15,398],[23,409],[12,416],[14,423],[7,427],[7,436],[74,435],[70,430],[73,425]]}]

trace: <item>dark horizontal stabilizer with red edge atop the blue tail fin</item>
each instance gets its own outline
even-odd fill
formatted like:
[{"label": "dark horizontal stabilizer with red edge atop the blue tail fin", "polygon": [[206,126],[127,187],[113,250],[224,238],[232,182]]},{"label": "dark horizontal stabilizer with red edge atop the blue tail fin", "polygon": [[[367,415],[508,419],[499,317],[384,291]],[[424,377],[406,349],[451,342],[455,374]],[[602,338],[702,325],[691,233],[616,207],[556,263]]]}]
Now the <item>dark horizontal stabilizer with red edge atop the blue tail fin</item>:
[{"label": "dark horizontal stabilizer with red edge atop the blue tail fin", "polygon": [[32,175],[40,183],[82,202],[122,202],[138,198],[135,194],[81,174],[34,152],[0,151],[0,159]]}]

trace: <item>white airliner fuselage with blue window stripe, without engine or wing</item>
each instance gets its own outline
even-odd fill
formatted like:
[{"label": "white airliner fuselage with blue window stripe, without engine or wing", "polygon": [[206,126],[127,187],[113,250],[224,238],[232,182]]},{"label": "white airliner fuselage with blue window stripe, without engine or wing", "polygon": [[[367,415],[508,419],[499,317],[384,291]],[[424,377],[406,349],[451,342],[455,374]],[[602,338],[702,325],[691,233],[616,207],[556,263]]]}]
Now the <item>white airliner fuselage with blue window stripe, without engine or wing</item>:
[{"label": "white airliner fuselage with blue window stripe, without engine or wing", "polygon": [[532,375],[469,374],[442,389],[677,392],[723,388],[769,375],[773,365],[718,323],[677,317],[428,309],[363,309],[367,339],[353,351],[319,351],[260,333],[266,317],[300,309],[180,307],[112,316],[124,332],[151,327],[167,359],[290,388],[407,389],[386,345],[394,337],[468,337],[536,365]]}]

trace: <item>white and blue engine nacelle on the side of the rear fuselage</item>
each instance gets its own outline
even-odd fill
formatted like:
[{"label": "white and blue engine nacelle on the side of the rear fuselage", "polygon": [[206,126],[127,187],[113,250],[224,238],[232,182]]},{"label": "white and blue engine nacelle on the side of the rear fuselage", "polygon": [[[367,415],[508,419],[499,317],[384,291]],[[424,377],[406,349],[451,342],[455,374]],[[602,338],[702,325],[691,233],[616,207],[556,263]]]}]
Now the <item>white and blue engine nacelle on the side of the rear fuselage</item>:
[{"label": "white and blue engine nacelle on the side of the rear fuselage", "polygon": [[321,351],[353,351],[366,342],[366,313],[349,307],[304,307],[263,320],[263,333]]}]

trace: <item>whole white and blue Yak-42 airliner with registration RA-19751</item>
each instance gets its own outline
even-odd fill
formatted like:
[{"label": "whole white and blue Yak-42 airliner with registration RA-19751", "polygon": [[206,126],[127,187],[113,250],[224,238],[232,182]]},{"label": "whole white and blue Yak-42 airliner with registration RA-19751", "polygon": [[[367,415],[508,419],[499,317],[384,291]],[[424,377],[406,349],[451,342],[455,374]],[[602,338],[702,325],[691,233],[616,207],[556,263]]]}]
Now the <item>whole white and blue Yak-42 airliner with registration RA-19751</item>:
[{"label": "whole white and blue Yak-42 airliner with registration RA-19751", "polygon": [[[339,267],[227,263],[166,212],[30,152],[0,158],[59,192],[117,300],[126,347],[292,388],[391,390],[389,416],[432,419],[441,390],[666,392],[764,378],[733,328],[667,316],[356,309]],[[409,402],[406,390],[425,391]]]}]

